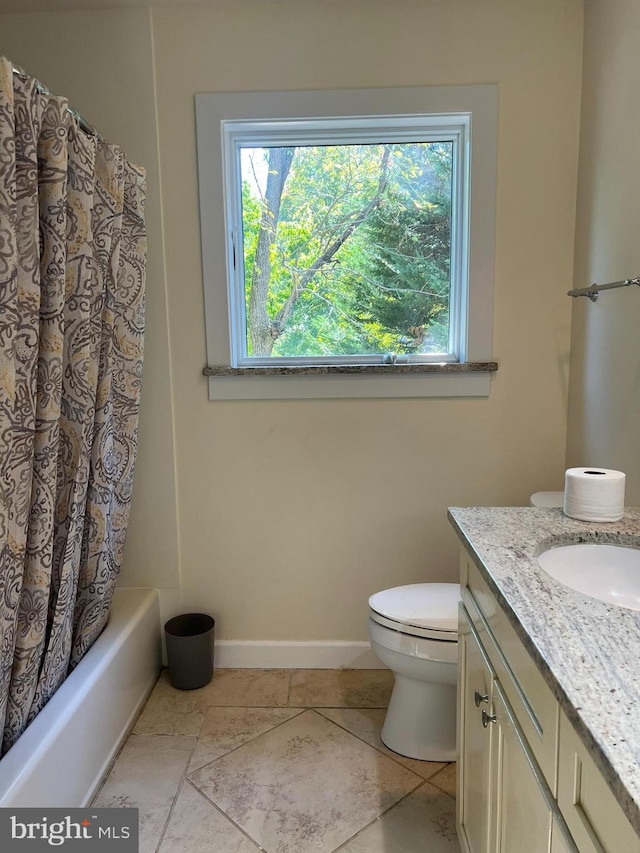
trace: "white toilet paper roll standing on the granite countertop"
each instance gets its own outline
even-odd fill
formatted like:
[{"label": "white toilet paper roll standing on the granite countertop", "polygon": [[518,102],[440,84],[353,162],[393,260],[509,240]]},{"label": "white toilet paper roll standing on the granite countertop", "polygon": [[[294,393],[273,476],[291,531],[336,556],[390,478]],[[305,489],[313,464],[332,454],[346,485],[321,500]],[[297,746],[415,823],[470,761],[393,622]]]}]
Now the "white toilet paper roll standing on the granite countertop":
[{"label": "white toilet paper roll standing on the granite countertop", "polygon": [[565,515],[580,521],[619,521],[625,475],[610,468],[569,468],[564,475]]}]

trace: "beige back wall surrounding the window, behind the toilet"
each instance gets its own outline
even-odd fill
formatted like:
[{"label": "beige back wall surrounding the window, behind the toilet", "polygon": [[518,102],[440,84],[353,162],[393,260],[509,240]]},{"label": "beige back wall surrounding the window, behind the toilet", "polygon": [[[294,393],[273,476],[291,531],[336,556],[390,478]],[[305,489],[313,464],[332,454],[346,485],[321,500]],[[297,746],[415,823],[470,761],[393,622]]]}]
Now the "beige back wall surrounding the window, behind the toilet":
[{"label": "beige back wall surrounding the window, behind the toilet", "polygon": [[[155,87],[164,203],[156,187],[150,266],[159,283],[153,275],[125,575],[158,586],[180,578],[185,608],[212,612],[218,638],[363,640],[372,592],[456,579],[448,505],[525,503],[561,487],[582,3],[244,0],[155,8],[151,29],[145,14],[0,19],[0,50],[113,127],[116,141],[130,139],[130,155],[154,175]],[[114,33],[125,19],[142,55]],[[64,35],[70,21],[86,23],[81,71]],[[110,76],[116,57],[137,67],[128,85]],[[490,397],[208,402],[194,94],[493,82],[500,370]],[[124,128],[112,124],[122,101]]]}]

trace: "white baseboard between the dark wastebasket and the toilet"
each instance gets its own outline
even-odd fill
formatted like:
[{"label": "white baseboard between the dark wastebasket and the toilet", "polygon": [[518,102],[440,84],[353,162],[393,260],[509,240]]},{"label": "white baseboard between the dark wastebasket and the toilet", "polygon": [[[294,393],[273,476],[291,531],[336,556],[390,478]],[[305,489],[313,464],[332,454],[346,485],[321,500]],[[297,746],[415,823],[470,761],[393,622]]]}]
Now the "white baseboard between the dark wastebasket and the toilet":
[{"label": "white baseboard between the dark wastebasket and the toilet", "polygon": [[367,642],[220,640],[214,646],[214,665],[220,669],[386,669]]}]

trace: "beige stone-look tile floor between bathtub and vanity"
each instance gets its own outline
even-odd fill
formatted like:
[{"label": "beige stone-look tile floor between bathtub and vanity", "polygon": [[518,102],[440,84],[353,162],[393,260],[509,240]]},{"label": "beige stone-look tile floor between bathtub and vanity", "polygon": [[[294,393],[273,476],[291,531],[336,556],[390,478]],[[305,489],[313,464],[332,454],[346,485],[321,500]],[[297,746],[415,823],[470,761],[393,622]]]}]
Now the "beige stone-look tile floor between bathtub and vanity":
[{"label": "beige stone-look tile floor between bathtub and vanity", "polygon": [[386,670],[163,673],[96,806],[140,810],[140,853],[459,853],[455,765],[380,741]]}]

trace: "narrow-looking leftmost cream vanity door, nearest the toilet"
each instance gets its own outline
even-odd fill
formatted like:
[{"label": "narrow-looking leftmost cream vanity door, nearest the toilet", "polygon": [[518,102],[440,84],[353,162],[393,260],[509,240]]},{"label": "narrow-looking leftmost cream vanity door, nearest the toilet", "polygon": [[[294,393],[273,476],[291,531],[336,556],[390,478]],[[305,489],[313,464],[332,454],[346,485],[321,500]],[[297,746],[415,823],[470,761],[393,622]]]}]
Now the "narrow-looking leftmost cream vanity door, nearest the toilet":
[{"label": "narrow-looking leftmost cream vanity door, nearest the toilet", "polygon": [[492,676],[463,607],[459,630],[458,835],[467,853],[493,853],[489,841],[492,731],[482,725],[482,711],[490,708]]}]

